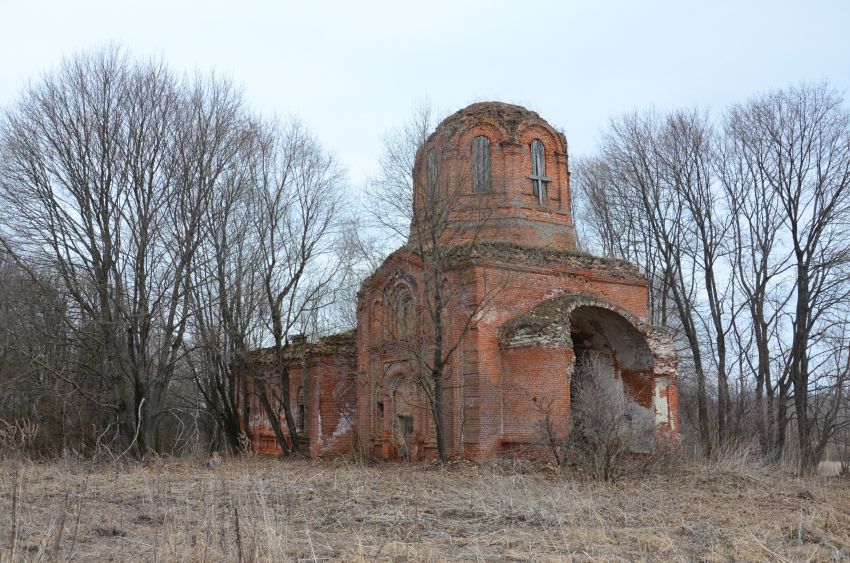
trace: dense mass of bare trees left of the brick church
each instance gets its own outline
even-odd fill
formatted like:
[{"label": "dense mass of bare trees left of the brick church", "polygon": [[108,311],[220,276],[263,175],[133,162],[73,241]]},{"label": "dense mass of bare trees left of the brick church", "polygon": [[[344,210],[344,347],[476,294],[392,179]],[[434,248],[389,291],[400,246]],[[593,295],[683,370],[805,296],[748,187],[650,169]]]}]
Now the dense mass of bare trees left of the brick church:
[{"label": "dense mass of bare trees left of the brick church", "polygon": [[38,421],[44,452],[145,457],[204,429],[239,448],[234,370],[271,346],[286,383],[291,336],[341,317],[344,183],[227,80],[117,47],[65,60],[0,125],[0,418]]}]

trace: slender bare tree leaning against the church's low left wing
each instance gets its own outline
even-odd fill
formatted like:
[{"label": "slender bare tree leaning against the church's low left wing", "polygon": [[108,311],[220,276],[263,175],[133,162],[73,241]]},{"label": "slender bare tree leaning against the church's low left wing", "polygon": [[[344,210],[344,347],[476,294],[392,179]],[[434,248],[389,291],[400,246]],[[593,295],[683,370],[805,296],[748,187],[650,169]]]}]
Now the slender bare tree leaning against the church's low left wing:
[{"label": "slender bare tree leaning against the church's low left wing", "polygon": [[[283,452],[298,449],[289,371],[291,337],[303,334],[345,284],[335,252],[341,219],[342,168],[297,122],[269,126],[251,159],[253,237],[260,252],[265,330],[272,341],[279,405],[265,376],[256,374],[259,398]],[[284,435],[280,412],[287,429]]]}]

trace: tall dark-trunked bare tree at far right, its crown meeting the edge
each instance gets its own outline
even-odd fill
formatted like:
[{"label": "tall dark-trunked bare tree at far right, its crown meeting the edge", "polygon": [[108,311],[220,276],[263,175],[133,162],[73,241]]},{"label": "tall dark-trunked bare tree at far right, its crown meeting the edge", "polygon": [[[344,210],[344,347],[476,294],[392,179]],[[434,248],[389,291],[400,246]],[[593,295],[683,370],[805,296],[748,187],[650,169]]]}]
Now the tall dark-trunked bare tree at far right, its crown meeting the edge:
[{"label": "tall dark-trunked bare tree at far right, its crown meeting the edge", "polygon": [[809,408],[812,351],[830,313],[850,297],[850,114],[842,104],[827,85],[804,85],[756,99],[747,113],[766,145],[760,172],[778,197],[792,254],[788,363],[804,473],[823,451]]}]

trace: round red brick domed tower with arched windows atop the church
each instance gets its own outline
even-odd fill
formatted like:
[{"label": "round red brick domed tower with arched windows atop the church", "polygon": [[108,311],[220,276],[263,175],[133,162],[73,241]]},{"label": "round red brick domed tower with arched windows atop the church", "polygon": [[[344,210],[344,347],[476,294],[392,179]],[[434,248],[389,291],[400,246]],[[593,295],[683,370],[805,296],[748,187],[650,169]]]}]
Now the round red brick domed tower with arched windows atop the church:
[{"label": "round red brick domed tower with arched windows atop the church", "polygon": [[[451,114],[413,175],[414,217],[445,218],[444,243],[575,249],[566,138],[533,111],[481,102]],[[424,224],[414,220],[411,241]]]}]

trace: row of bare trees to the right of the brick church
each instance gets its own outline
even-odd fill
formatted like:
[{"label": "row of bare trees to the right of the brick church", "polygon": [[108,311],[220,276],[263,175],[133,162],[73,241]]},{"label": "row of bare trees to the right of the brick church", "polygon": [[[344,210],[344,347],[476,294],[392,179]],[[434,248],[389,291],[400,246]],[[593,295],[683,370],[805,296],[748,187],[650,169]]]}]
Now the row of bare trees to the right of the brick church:
[{"label": "row of bare trees to the right of the brick church", "polygon": [[836,91],[622,115],[575,172],[585,245],[640,265],[652,321],[677,336],[701,454],[756,436],[808,472],[846,442],[850,113]]}]

